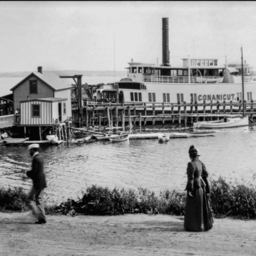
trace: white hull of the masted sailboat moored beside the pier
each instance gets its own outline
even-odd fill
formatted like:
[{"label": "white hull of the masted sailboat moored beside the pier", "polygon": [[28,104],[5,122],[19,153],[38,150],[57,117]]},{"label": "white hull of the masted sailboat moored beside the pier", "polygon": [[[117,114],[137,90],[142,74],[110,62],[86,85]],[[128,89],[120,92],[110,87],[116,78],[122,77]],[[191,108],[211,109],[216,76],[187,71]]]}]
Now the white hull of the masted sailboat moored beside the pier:
[{"label": "white hull of the masted sailboat moored beside the pier", "polygon": [[247,125],[249,125],[248,117],[236,118],[235,120],[228,119],[227,122],[208,121],[194,123],[194,127],[196,128],[231,128]]}]

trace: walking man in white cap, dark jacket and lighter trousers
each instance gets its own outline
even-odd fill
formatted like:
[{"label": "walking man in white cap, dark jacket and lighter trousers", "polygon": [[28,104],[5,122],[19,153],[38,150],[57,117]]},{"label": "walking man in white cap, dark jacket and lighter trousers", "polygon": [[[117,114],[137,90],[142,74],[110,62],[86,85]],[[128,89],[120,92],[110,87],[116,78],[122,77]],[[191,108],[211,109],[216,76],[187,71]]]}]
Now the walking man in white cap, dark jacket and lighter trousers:
[{"label": "walking man in white cap, dark jacket and lighter trousers", "polygon": [[[28,151],[32,157],[32,168],[26,171],[25,174],[32,179],[33,187],[28,195],[28,203],[34,215],[38,217],[36,224],[46,223],[46,217],[43,206],[44,188],[46,181],[43,172],[43,158],[38,152],[39,144],[31,144],[28,146]],[[34,201],[34,197],[36,201]]]}]

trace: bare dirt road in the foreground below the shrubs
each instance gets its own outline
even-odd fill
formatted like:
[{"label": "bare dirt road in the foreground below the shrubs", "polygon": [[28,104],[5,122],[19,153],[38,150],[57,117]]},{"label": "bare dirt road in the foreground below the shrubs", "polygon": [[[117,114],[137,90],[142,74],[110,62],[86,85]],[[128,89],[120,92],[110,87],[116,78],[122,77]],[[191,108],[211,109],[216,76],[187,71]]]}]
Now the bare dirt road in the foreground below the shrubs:
[{"label": "bare dirt road in the foreground below the shrubs", "polygon": [[56,216],[0,213],[0,255],[256,255],[256,221],[214,219],[207,232],[169,215]]}]

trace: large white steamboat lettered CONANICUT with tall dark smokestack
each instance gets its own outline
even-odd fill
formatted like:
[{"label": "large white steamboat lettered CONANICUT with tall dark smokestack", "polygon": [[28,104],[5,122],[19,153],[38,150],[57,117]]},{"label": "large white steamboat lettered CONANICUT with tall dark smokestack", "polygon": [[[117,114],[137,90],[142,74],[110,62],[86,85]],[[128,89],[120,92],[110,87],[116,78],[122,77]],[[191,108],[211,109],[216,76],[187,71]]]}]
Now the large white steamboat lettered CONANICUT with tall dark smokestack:
[{"label": "large white steamboat lettered CONANICUT with tall dark smokestack", "polygon": [[[219,65],[218,59],[181,59],[169,64],[168,18],[162,18],[162,65],[129,62],[127,78],[97,89],[98,101],[117,103],[216,103],[242,100],[241,66]],[[245,100],[256,99],[256,81],[249,65],[243,68]]]}]

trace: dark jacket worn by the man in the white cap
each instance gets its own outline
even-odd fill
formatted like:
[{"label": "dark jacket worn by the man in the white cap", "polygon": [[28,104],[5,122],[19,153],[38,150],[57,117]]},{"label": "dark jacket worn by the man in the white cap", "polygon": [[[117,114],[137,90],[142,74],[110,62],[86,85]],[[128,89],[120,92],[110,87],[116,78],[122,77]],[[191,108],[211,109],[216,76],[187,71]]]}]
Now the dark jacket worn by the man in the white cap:
[{"label": "dark jacket worn by the man in the white cap", "polygon": [[27,176],[32,179],[35,189],[46,188],[46,181],[43,172],[43,158],[40,154],[33,157],[31,171],[27,171]]}]

